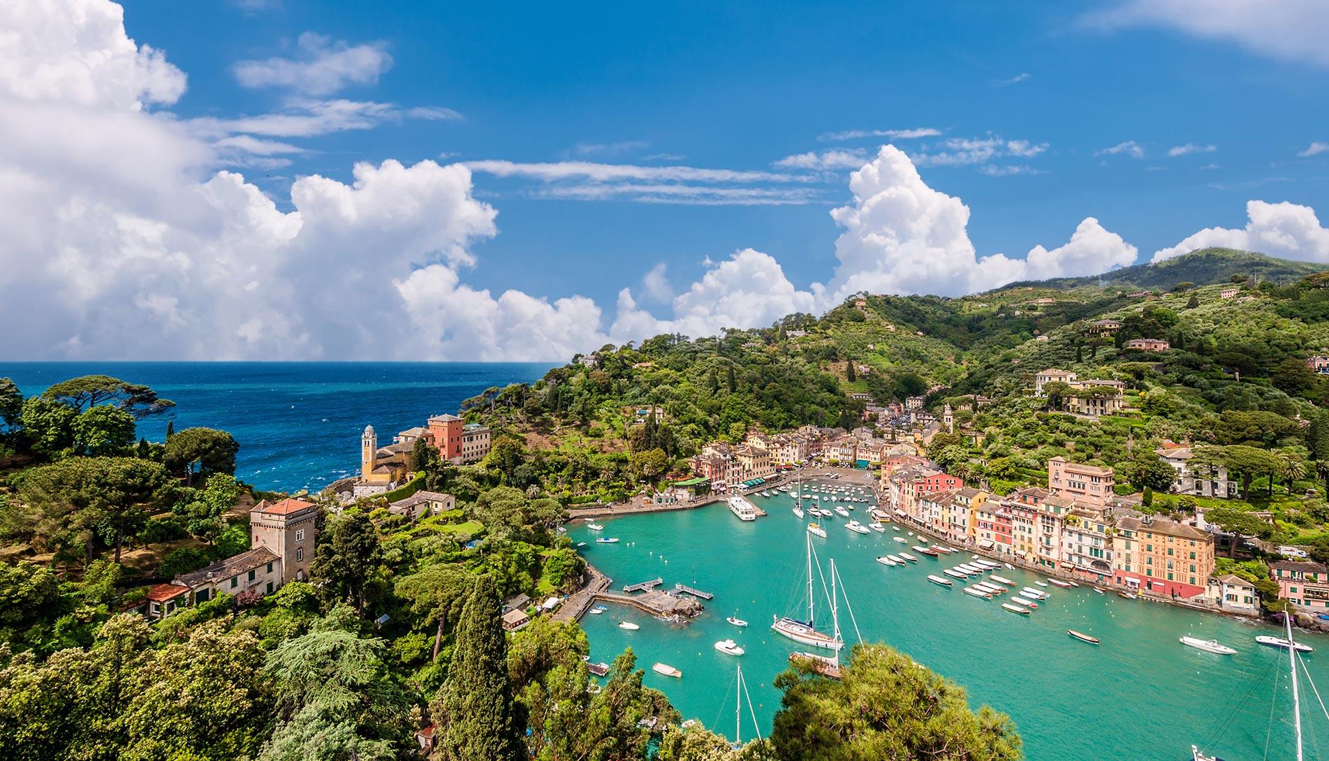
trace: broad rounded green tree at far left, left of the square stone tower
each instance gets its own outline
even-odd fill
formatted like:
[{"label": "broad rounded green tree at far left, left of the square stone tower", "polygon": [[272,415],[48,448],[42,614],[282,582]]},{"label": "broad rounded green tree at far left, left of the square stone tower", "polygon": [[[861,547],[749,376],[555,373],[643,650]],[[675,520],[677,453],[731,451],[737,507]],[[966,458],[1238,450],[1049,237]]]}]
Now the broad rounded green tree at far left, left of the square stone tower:
[{"label": "broad rounded green tree at far left, left of the square stone tower", "polygon": [[[92,562],[93,539],[116,549],[154,511],[167,507],[177,493],[175,479],[161,464],[137,457],[78,457],[23,473],[19,499],[32,507],[27,529],[53,535],[73,533],[85,543]],[[109,535],[108,535],[109,534]]]}]

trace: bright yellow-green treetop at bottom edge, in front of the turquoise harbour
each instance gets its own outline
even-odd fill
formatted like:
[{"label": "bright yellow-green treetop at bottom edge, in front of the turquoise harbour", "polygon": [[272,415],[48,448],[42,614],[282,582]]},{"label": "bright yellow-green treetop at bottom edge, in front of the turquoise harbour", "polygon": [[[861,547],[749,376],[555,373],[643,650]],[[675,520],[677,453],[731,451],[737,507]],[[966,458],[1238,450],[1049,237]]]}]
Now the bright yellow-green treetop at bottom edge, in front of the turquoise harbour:
[{"label": "bright yellow-green treetop at bottom edge, in front of the turquoise harbour", "polygon": [[1009,716],[971,711],[962,687],[884,644],[856,645],[840,680],[799,664],[775,687],[784,697],[769,744],[780,761],[1022,757]]}]

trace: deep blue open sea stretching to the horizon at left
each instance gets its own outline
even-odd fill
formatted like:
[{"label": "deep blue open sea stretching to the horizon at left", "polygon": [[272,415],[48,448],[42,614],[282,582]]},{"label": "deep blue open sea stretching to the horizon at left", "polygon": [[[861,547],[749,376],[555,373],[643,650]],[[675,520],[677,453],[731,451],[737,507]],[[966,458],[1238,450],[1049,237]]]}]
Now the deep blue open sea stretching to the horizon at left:
[{"label": "deep blue open sea stretching to the horizon at left", "polygon": [[[530,382],[542,363],[0,363],[24,396],[85,375],[146,384],[175,402],[175,430],[219,428],[239,441],[237,477],[271,491],[318,490],[351,475],[360,433],[379,445],[490,386]],[[161,441],[166,417],[141,421]]]}]

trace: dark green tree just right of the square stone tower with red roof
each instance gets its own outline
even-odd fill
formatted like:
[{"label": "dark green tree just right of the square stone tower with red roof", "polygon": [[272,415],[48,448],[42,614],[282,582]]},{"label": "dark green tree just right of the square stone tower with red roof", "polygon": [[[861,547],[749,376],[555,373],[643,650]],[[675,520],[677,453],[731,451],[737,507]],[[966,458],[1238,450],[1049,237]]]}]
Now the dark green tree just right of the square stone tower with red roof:
[{"label": "dark green tree just right of the square stone tower with red roof", "polygon": [[364,615],[365,591],[383,558],[379,530],[360,510],[330,518],[319,534],[310,575],[328,600],[344,600]]}]

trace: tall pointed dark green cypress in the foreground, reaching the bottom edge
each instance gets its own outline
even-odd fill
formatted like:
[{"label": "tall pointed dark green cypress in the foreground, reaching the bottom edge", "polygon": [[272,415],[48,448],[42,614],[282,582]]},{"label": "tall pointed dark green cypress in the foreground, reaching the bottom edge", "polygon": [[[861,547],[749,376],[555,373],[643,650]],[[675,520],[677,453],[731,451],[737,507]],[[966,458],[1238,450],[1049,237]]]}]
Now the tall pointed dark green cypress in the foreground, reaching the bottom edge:
[{"label": "tall pointed dark green cypress in the foreground, reaching the bottom edge", "polygon": [[448,681],[440,691],[448,761],[516,761],[525,756],[508,681],[508,637],[493,576],[476,579],[461,608]]}]

